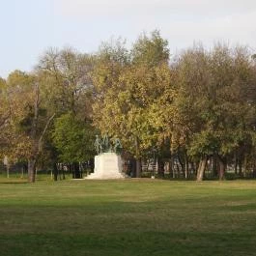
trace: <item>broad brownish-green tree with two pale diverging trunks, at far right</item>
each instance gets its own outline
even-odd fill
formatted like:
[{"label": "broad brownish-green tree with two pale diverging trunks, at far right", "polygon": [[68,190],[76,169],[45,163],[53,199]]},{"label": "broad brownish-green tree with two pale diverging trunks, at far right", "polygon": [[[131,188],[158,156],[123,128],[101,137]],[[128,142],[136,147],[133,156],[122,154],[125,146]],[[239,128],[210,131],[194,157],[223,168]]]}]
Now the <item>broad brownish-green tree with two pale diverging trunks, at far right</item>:
[{"label": "broad brownish-green tree with two pale diverging trunks, at far right", "polygon": [[229,156],[240,144],[252,141],[249,117],[254,106],[245,92],[254,75],[248,52],[220,44],[209,52],[194,48],[182,55],[177,67],[179,93],[184,94],[181,102],[189,105],[191,113],[186,148],[190,156],[200,159],[197,180],[203,179],[210,156],[216,157],[222,180]]}]

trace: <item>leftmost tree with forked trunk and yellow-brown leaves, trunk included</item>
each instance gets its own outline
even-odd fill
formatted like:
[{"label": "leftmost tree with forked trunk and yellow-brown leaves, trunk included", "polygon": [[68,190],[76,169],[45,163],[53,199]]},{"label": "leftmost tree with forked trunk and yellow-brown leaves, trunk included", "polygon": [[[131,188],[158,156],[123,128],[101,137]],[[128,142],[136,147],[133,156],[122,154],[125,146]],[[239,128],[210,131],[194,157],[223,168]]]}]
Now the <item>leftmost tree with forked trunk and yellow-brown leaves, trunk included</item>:
[{"label": "leftmost tree with forked trunk and yellow-brown leaves, trunk included", "polygon": [[11,158],[27,158],[28,180],[34,183],[43,136],[54,114],[48,113],[43,104],[37,73],[11,73],[7,79],[6,94],[10,115],[5,126],[7,143],[3,150]]}]

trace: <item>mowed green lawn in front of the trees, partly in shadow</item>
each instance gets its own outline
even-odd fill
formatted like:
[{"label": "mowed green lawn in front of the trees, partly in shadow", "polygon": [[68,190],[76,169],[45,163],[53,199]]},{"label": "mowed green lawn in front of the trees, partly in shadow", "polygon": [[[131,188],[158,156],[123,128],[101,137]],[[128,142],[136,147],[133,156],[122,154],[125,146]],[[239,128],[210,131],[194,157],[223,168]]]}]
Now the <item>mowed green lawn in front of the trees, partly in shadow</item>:
[{"label": "mowed green lawn in front of the trees, partly in shadow", "polygon": [[256,255],[256,181],[0,179],[0,255]]}]

